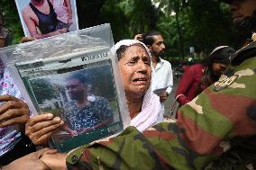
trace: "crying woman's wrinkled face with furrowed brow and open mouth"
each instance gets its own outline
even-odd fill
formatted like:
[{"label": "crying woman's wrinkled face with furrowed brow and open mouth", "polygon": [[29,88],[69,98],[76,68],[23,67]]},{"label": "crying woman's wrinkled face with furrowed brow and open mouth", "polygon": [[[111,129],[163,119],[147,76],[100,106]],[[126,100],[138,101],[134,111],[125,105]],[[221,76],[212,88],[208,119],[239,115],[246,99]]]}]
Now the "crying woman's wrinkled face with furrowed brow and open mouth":
[{"label": "crying woman's wrinkled face with furrowed brow and open mouth", "polygon": [[118,61],[125,94],[142,97],[151,85],[151,58],[141,45],[124,50]]}]

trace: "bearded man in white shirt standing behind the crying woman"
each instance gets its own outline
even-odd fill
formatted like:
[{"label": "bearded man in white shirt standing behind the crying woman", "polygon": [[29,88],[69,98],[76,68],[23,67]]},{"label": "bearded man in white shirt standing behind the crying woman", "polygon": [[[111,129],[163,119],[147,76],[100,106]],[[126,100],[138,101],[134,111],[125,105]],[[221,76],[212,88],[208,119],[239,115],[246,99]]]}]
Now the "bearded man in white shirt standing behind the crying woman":
[{"label": "bearded man in white shirt standing behind the crying woman", "polygon": [[151,51],[154,68],[151,89],[160,96],[160,102],[162,103],[166,101],[171,93],[173,85],[171,65],[169,61],[160,58],[165,50],[163,38],[159,31],[150,31],[142,34],[141,40]]}]

